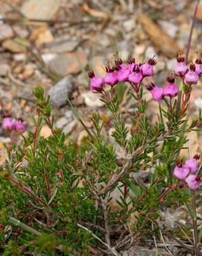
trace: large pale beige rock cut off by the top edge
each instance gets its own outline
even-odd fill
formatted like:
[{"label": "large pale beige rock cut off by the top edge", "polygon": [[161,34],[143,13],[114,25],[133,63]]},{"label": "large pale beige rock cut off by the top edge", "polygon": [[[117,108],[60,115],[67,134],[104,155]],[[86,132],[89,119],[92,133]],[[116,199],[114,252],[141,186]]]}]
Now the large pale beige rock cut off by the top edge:
[{"label": "large pale beige rock cut off by the top edge", "polygon": [[21,6],[21,12],[29,19],[52,19],[59,10],[60,0],[28,0]]}]

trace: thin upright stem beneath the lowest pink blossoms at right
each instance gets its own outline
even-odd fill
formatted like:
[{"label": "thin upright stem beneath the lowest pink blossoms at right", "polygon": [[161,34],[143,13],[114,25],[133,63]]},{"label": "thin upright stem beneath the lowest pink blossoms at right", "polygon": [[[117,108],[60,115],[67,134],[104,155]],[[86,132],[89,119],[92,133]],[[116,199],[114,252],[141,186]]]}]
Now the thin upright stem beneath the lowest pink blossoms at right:
[{"label": "thin upright stem beneath the lowest pink blossoms at right", "polygon": [[192,210],[193,210],[193,227],[194,227],[194,249],[195,249],[195,254],[196,256],[200,256],[201,253],[199,251],[199,239],[198,239],[198,230],[197,230],[197,219],[196,219],[196,199],[195,199],[195,191],[191,190],[192,194]]}]

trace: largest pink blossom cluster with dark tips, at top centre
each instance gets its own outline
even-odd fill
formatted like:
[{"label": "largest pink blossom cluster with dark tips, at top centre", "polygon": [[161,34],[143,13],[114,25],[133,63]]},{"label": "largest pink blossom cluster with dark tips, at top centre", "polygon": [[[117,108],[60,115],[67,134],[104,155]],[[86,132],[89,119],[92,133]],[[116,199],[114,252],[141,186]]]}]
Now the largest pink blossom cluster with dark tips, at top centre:
[{"label": "largest pink blossom cluster with dark tips, at top centre", "polygon": [[153,66],[155,64],[154,58],[143,64],[137,64],[135,59],[129,60],[128,64],[122,63],[122,60],[116,60],[113,67],[106,67],[105,77],[98,77],[93,71],[89,72],[91,91],[102,93],[104,85],[114,86],[118,82],[140,84],[144,77],[154,75]]}]

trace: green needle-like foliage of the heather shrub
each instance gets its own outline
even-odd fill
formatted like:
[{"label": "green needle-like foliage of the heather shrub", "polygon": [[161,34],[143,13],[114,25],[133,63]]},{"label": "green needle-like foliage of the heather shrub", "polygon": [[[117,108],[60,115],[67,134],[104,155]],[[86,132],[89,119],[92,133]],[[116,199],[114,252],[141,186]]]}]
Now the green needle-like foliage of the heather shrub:
[{"label": "green needle-like foliage of the heather shrub", "polygon": [[[92,115],[89,136],[78,146],[55,128],[42,87],[33,94],[35,129],[20,144],[8,147],[8,161],[0,170],[2,255],[91,255],[93,250],[102,255],[107,248],[100,240],[107,242],[107,232],[120,252],[130,244],[129,234],[144,238],[158,232],[151,225],[162,205],[189,201],[187,190],[174,186],[172,171],[186,135],[201,124],[201,111],[188,126],[178,102],[166,101],[152,127],[141,88],[131,93],[135,107],[129,129],[122,119],[119,93],[107,93],[102,101],[111,113],[112,137],[122,150],[118,158],[116,147],[104,137],[105,124],[98,113]],[[52,131],[48,138],[40,135],[44,124]],[[144,170],[151,172],[147,185],[134,178]]]}]

